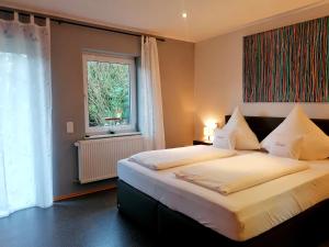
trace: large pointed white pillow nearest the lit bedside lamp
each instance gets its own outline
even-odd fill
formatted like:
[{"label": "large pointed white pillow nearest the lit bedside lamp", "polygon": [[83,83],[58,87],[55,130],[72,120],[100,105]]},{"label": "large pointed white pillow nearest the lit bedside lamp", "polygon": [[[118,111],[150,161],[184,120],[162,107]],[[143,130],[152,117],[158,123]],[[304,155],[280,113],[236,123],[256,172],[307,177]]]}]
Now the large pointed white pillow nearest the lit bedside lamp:
[{"label": "large pointed white pillow nearest the lit bedside lamp", "polygon": [[226,132],[234,132],[236,137],[236,149],[259,149],[260,144],[256,134],[250,130],[243,115],[236,108],[227,124],[223,127]]}]

